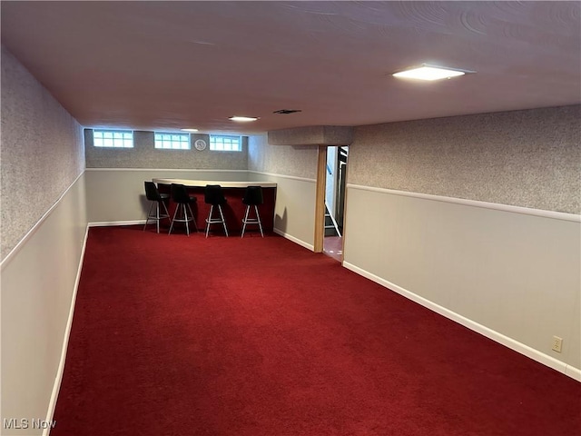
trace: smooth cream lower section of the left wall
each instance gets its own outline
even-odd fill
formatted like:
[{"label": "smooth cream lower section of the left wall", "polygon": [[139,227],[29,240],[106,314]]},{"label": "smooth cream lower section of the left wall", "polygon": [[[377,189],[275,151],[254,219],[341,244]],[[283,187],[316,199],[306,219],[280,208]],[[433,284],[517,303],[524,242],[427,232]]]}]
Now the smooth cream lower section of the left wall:
[{"label": "smooth cream lower section of the left wall", "polygon": [[52,419],[83,262],[84,211],[81,176],[2,263],[3,419]]}]

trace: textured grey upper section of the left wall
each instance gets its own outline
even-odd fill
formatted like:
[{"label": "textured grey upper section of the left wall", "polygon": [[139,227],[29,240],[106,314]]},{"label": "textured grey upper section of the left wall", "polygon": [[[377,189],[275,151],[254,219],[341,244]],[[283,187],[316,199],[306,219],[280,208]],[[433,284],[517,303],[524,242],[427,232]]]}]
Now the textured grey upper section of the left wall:
[{"label": "textured grey upper section of the left wall", "polygon": [[2,47],[2,259],[84,170],[80,124]]}]

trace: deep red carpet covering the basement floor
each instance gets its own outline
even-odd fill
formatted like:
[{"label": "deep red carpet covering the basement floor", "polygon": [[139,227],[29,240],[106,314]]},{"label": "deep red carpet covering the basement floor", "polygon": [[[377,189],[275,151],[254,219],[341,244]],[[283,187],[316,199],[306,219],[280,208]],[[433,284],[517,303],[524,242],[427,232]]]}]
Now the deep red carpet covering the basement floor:
[{"label": "deep red carpet covering the basement floor", "polygon": [[92,228],[52,436],[581,434],[581,383],[279,236]]}]

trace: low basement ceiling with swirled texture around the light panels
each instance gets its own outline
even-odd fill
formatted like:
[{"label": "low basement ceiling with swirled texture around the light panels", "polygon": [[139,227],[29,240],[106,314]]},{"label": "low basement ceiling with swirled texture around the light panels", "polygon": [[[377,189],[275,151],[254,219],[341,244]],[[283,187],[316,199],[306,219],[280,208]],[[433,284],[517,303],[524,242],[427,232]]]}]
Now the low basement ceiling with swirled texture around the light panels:
[{"label": "low basement ceiling with swirled texture around the light panels", "polygon": [[[2,44],[86,127],[255,134],[581,102],[579,2],[1,8]],[[418,64],[477,73],[432,83],[391,76]]]}]

